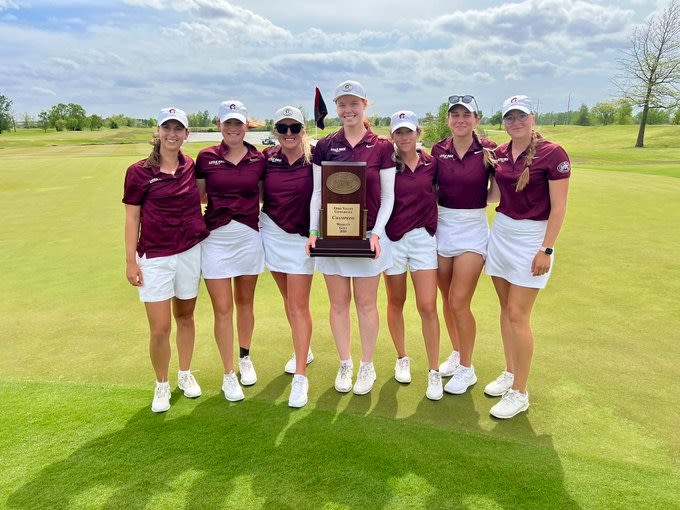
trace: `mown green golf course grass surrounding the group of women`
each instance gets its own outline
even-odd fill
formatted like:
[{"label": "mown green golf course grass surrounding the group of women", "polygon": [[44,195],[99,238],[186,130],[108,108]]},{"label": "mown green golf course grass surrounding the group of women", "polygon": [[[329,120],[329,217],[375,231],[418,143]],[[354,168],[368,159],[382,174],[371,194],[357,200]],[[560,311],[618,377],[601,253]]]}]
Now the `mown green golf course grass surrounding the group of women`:
[{"label": "mown green golf course grass surrounding the group of women", "polygon": [[[545,135],[577,147],[574,131]],[[613,131],[608,141],[606,130],[592,128],[601,136],[591,135],[583,150],[610,145],[611,157],[625,161]],[[654,140],[652,133],[652,148],[641,152],[657,150]],[[480,381],[465,396],[430,402],[412,296],[406,324],[414,381],[401,386],[392,378],[382,286],[376,387],[365,397],[335,392],[337,354],[317,275],[310,401],[290,410],[282,373],[290,334],[265,273],[252,351],[259,380],[245,389],[246,400],[230,404],[219,391],[202,289],[193,368],[204,395],[189,401],[175,391],[172,409],[158,416],[148,410],[144,310],[123,274],[120,203],[125,168],[148,149],[1,152],[0,507],[678,506],[672,388],[680,380],[680,187],[654,175],[665,162],[650,156],[634,173],[605,171],[574,149],[583,163],[574,165],[555,271],[534,312],[527,414],[509,422],[488,415],[495,400],[482,388],[503,357],[487,277],[473,303]],[[356,324],[353,331],[356,360]],[[448,349],[443,334],[442,358]],[[176,357],[173,384],[175,370]]]}]

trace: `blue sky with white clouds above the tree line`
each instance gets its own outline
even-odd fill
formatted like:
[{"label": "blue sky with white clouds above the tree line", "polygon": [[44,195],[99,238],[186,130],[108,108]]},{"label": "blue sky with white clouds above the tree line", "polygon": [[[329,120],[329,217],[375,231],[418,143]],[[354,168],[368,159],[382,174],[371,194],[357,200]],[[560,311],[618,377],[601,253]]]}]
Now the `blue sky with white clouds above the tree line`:
[{"label": "blue sky with white clouds above the tree line", "polygon": [[484,112],[524,93],[539,111],[611,99],[627,35],[663,0],[0,0],[0,94],[18,116],[79,103],[154,117],[216,113],[240,99],[255,118],[327,103],[363,83],[371,114],[436,111],[471,93]]}]

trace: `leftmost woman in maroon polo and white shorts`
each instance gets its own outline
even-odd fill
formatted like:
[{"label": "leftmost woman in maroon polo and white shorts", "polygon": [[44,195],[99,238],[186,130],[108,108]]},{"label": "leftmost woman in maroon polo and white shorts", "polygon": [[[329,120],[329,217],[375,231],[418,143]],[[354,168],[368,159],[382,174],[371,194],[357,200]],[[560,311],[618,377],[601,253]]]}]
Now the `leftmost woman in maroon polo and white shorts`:
[{"label": "leftmost woman in maroon polo and white shorts", "polygon": [[201,217],[193,160],[180,148],[189,134],[186,114],[164,108],[151,155],[127,169],[125,204],[126,276],[139,289],[149,320],[149,354],[156,372],[151,410],[170,409],[170,328],[177,324],[179,388],[198,397],[189,367],[194,350],[194,307],[201,276],[200,242],[208,236]]}]

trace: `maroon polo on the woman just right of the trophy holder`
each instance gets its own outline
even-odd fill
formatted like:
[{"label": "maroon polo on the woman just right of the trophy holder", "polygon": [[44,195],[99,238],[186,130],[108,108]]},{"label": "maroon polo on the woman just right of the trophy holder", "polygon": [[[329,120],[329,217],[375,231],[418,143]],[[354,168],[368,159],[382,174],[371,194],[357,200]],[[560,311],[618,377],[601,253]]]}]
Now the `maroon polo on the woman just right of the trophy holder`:
[{"label": "maroon polo on the woman just right of the trophy holder", "polygon": [[437,230],[437,160],[419,151],[415,171],[404,165],[394,180],[394,209],[385,233],[398,241],[415,228],[424,227],[430,235]]}]

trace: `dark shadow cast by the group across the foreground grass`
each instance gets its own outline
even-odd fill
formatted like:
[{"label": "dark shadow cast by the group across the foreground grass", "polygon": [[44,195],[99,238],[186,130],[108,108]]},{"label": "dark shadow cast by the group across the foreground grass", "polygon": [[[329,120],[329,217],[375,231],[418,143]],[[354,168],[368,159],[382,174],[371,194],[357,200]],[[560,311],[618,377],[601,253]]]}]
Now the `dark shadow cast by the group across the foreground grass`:
[{"label": "dark shadow cast by the group across the foreground grass", "polygon": [[[278,377],[262,395],[277,398],[288,382]],[[419,414],[447,409],[425,400],[418,419],[386,418],[394,406],[379,402],[378,413],[369,413],[370,398],[389,401],[397,390],[385,385],[379,396],[351,397],[342,412],[343,397],[332,388],[318,402],[325,411],[254,399],[229,404],[221,394],[188,403],[175,392],[168,413],[145,405],[122,429],[46,466],[7,503],[31,510],[579,508],[550,438],[536,437],[526,416],[507,424],[522,431],[511,442],[423,425]],[[121,397],[117,391],[97,405],[105,409],[106,399]],[[455,406],[470,413],[466,422],[477,418],[465,396]]]}]

